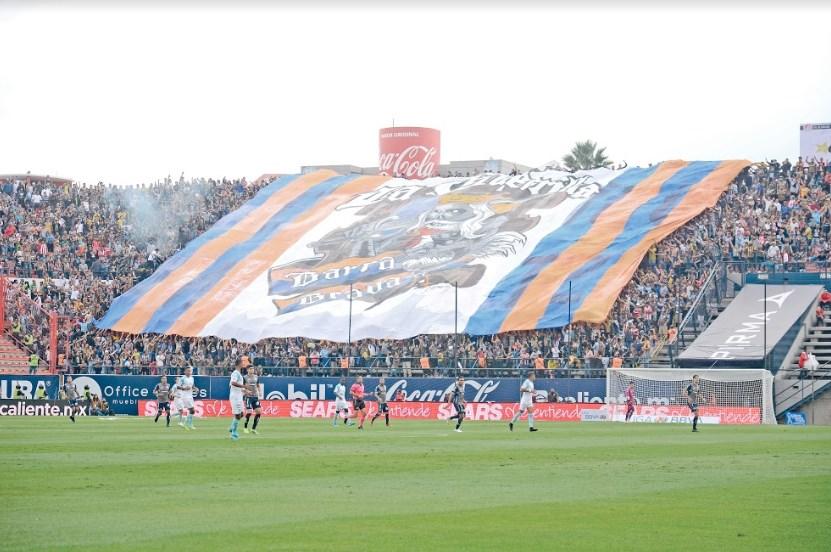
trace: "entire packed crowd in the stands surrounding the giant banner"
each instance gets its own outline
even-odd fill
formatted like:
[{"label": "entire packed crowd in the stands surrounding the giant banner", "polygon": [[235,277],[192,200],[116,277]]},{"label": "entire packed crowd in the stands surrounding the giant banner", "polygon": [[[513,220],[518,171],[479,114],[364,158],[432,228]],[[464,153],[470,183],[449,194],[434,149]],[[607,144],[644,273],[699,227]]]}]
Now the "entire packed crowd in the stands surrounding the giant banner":
[{"label": "entire packed crowd in the stands surrounding the giant banner", "polygon": [[[440,374],[537,368],[600,370],[648,364],[676,329],[718,261],[754,270],[810,270],[828,257],[831,166],[770,161],[743,171],[713,209],[653,246],[608,320],[493,336],[424,335],[351,345],[303,338],[256,344],[216,338],[120,335],[93,321],[117,295],[164,258],[236,209],[257,187],[235,181],[166,182],[112,188],[6,183],[0,194],[0,250],[12,286],[21,341],[46,358],[43,316],[62,317],[58,364],[65,370],[161,373],[186,365],[224,371],[246,356],[280,373],[337,373],[344,366]],[[48,193],[47,193],[48,190]],[[196,199],[194,199],[196,198]],[[147,206],[155,214],[146,223]],[[96,265],[96,262],[98,263]],[[11,295],[11,294],[10,294]]]}]

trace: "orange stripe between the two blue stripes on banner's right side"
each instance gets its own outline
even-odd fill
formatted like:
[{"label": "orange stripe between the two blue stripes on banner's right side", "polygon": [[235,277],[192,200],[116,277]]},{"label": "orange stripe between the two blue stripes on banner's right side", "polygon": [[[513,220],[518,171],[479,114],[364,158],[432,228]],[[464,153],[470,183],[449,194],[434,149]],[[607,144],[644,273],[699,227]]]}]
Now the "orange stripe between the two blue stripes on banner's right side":
[{"label": "orange stripe between the two blue stripes on banner's right side", "polygon": [[[531,329],[545,314],[550,298],[569,274],[606,249],[626,226],[626,221],[641,205],[658,195],[661,186],[687,165],[685,161],[667,161],[644,178],[628,194],[603,211],[583,237],[574,242],[551,264],[543,268],[525,288],[500,331]],[[567,223],[566,223],[567,224]]]}]

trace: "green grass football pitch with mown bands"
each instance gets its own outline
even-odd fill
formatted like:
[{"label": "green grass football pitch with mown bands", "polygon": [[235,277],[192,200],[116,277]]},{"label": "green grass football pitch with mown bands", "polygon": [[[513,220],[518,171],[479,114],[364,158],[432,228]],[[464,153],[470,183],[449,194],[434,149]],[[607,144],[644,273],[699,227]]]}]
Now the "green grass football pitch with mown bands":
[{"label": "green grass football pitch with mown bands", "polygon": [[831,427],[0,418],[0,550],[829,550]]}]

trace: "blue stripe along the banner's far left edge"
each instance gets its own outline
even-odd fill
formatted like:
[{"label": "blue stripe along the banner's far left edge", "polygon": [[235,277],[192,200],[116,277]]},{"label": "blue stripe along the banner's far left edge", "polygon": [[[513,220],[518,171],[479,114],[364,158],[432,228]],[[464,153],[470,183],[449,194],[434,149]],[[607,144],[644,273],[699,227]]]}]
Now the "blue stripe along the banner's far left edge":
[{"label": "blue stripe along the banner's far left edge", "polygon": [[285,188],[299,176],[300,175],[298,174],[281,176],[257,192],[257,194],[245,202],[242,207],[219,219],[204,234],[188,242],[184,249],[162,263],[162,265],[157,268],[156,271],[150,275],[150,277],[145,278],[137,285],[130,288],[126,293],[116,298],[110,306],[110,309],[101,318],[101,320],[96,321],[96,326],[99,328],[112,328],[124,317],[124,315],[130,312],[130,310],[141,300],[145,293],[152,290],[160,282],[163,282],[171,272],[187,262],[200,247],[211,240],[218,238],[222,234],[225,234],[228,230],[236,226],[237,223],[248,216],[251,211],[268,201],[269,197]]}]

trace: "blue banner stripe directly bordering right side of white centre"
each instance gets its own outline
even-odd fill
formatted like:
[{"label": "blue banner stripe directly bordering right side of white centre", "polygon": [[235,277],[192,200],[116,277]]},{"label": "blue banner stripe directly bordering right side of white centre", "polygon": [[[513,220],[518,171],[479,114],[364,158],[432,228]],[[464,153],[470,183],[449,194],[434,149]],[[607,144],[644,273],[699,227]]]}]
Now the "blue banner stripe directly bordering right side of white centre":
[{"label": "blue banner stripe directly bordering right side of white centre", "polygon": [[470,317],[465,332],[471,335],[498,333],[505,318],[539,271],[553,263],[563,251],[588,232],[603,211],[657,169],[658,165],[629,169],[604,186],[597,196],[586,201],[570,219],[545,236],[522,264],[502,278]]}]

